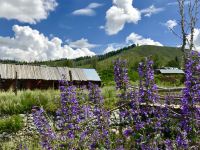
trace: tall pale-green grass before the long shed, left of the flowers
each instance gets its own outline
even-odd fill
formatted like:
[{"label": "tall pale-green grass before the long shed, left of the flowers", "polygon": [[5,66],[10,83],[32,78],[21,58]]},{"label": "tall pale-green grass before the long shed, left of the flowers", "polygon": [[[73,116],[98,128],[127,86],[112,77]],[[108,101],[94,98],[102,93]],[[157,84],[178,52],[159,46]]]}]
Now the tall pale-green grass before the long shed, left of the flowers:
[{"label": "tall pale-green grass before the long shed, left of the flowers", "polygon": [[31,111],[33,106],[43,106],[47,112],[54,112],[60,100],[58,90],[19,91],[17,96],[9,92],[0,93],[0,114],[13,115]]}]

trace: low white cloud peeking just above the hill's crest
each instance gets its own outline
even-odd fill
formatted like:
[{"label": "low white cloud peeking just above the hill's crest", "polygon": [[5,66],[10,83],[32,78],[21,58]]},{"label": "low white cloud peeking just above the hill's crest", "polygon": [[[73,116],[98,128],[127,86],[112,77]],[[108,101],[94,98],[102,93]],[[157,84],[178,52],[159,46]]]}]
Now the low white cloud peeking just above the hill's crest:
[{"label": "low white cloud peeking just above the hill's crest", "polygon": [[154,41],[150,38],[144,38],[141,35],[138,35],[136,33],[131,33],[126,38],[127,43],[133,43],[138,45],[156,45],[156,46],[163,46],[160,42]]}]

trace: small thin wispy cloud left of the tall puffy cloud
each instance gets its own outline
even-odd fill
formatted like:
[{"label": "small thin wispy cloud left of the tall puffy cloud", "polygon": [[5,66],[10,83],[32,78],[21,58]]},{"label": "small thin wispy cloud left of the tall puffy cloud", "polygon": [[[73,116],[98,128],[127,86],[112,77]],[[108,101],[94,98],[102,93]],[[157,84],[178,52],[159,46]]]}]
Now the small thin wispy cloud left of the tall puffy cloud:
[{"label": "small thin wispy cloud left of the tall puffy cloud", "polygon": [[72,12],[73,15],[94,16],[96,14],[95,8],[101,7],[102,4],[91,3],[86,8],[78,9]]}]

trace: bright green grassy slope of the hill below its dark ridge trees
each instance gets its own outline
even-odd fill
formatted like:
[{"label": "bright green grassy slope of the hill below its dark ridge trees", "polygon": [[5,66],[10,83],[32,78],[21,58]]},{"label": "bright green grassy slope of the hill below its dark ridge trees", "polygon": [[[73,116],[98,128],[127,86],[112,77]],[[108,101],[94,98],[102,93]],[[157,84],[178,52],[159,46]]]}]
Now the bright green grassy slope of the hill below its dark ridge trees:
[{"label": "bright green grassy slope of the hill below its dark ridge trees", "polygon": [[[180,49],[172,47],[158,47],[158,46],[139,46],[131,48],[121,53],[108,57],[104,60],[98,60],[97,58],[97,70],[109,69],[113,65],[113,60],[117,58],[126,59],[129,67],[134,67],[135,63],[138,63],[143,58],[152,56],[152,59],[159,62],[159,66],[166,66],[169,61],[174,60],[178,57],[181,60],[182,52]],[[77,67],[92,67],[92,59],[90,62],[84,65],[77,65]],[[76,64],[76,63],[75,63]]]}]

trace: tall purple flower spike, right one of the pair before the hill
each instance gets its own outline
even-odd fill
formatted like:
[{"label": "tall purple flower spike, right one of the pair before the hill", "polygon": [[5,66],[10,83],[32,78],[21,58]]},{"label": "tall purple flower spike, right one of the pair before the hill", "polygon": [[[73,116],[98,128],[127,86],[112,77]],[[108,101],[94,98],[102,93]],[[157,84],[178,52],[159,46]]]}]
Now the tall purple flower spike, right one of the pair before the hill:
[{"label": "tall purple flower spike, right one of the pair before the hill", "polygon": [[144,103],[140,106],[139,112],[141,116],[141,122],[138,122],[136,129],[152,128],[152,131],[144,133],[141,140],[146,141],[146,144],[142,144],[141,148],[150,147],[151,145],[157,145],[159,141],[154,140],[154,143],[150,143],[148,138],[156,137],[160,135],[162,127],[162,111],[160,107],[152,107],[150,104],[158,103],[158,89],[154,81],[153,61],[146,58],[144,62],[139,64],[138,73],[140,77],[139,90],[138,90],[138,102]]}]

